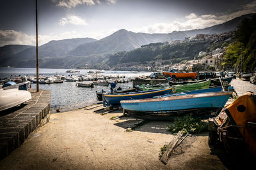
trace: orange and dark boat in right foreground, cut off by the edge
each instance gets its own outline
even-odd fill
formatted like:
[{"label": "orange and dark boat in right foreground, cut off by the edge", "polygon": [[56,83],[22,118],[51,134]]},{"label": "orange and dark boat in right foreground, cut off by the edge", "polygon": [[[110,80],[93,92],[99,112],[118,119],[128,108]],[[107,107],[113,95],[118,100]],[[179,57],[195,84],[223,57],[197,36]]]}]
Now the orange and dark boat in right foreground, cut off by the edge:
[{"label": "orange and dark boat in right foreground, cut off by the edge", "polygon": [[256,156],[255,99],[255,94],[246,92],[223,108],[217,117],[209,118],[210,144],[224,143],[229,152],[248,148]]}]

